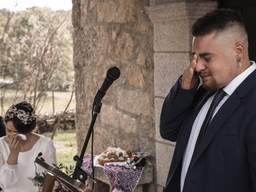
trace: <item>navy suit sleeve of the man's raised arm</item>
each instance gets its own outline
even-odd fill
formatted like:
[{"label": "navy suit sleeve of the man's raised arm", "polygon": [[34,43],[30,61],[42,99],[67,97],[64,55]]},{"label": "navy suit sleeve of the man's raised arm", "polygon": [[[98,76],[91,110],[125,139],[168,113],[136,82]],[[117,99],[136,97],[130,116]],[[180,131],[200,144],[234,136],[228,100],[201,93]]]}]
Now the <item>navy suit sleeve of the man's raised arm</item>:
[{"label": "navy suit sleeve of the man's raised arm", "polygon": [[160,135],[172,142],[176,142],[178,138],[180,127],[190,111],[199,84],[198,80],[194,88],[184,90],[180,88],[180,78],[166,96],[160,115]]}]

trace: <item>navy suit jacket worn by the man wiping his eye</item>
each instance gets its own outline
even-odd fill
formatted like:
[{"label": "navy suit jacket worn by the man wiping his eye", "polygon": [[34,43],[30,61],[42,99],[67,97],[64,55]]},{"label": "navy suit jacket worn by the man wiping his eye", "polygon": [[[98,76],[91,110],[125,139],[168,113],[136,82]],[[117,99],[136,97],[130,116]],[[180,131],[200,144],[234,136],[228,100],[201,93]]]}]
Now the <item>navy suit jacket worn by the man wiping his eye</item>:
[{"label": "navy suit jacket worn by the man wiping his eye", "polygon": [[[180,192],[182,157],[194,120],[212,95],[179,81],[164,100],[162,138],[176,142],[165,192]],[[256,192],[256,70],[230,95],[210,122],[188,176],[188,192]]]}]

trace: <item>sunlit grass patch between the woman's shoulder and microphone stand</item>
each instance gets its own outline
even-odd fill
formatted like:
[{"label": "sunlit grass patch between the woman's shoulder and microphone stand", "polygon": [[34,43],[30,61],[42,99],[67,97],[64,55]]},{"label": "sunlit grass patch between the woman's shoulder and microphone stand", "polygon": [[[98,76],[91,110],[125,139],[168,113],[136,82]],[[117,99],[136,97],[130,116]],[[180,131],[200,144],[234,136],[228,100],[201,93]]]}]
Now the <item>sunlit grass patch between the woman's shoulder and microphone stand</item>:
[{"label": "sunlit grass patch between the woman's shoulder and microphone stand", "polygon": [[[51,138],[52,133],[47,132],[43,135]],[[77,154],[76,130],[57,130],[53,141],[57,151],[58,165],[60,163],[68,167],[75,165],[73,157]]]}]

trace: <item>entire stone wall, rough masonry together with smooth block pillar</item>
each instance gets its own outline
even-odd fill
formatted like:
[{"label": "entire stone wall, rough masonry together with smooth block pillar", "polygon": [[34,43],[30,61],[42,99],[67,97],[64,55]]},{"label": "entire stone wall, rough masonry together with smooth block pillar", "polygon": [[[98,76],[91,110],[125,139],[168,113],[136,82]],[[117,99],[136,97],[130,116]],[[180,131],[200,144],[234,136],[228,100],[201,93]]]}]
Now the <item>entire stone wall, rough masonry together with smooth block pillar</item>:
[{"label": "entire stone wall, rough masonry together with smooth block pillar", "polygon": [[108,146],[150,152],[155,189],[148,191],[162,192],[175,147],[159,134],[162,103],[191,61],[192,24],[217,5],[210,0],[73,0],[78,151],[94,95],[107,69],[117,66],[121,76],[102,100],[94,127],[94,152]]}]

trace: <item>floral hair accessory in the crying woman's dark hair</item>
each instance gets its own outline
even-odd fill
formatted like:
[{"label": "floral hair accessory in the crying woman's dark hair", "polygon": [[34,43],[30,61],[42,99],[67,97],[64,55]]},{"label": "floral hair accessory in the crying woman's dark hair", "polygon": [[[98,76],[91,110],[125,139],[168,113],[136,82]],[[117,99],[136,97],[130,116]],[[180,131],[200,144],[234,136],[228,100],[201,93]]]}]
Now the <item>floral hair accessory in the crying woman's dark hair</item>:
[{"label": "floral hair accessory in the crying woman's dark hair", "polygon": [[32,122],[32,120],[36,119],[37,115],[35,113],[35,111],[30,112],[25,112],[22,109],[17,109],[15,106],[11,106],[5,116],[8,116],[10,119],[14,118],[14,116],[16,116],[17,118],[19,118],[21,120],[21,122],[23,124],[30,124]]}]

